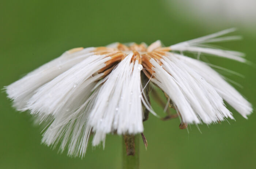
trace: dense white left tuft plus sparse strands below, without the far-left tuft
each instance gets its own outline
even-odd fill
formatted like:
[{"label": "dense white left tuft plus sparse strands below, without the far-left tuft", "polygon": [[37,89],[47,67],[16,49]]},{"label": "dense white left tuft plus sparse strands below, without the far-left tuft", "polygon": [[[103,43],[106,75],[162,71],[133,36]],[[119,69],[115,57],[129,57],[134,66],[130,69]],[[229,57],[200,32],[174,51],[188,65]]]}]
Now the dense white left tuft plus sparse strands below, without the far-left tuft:
[{"label": "dense white left tuft plus sparse strands below, without the far-left tuft", "polygon": [[31,97],[26,109],[41,121],[52,118],[42,142],[53,147],[60,142],[61,152],[68,147],[70,156],[84,156],[91,132],[88,117],[100,86],[93,94],[92,89],[104,75],[97,72],[110,59],[105,55],[90,56],[46,83]]}]

